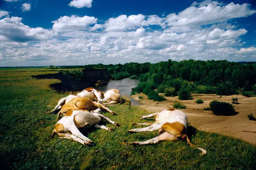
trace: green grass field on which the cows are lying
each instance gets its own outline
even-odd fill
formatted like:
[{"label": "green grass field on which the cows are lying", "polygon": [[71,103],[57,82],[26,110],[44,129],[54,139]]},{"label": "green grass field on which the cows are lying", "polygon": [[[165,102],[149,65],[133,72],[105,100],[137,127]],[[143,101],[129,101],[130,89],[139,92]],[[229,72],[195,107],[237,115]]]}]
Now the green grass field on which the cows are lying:
[{"label": "green grass field on which the cows are lying", "polygon": [[191,148],[185,141],[131,146],[127,142],[145,141],[157,132],[129,134],[132,123],[147,111],[127,105],[109,107],[118,115],[104,115],[118,122],[114,132],[92,129],[83,132],[96,146],[51,138],[56,119],[48,114],[60,98],[67,96],[49,89],[59,80],[36,80],[31,75],[48,74],[44,69],[0,70],[0,165],[1,169],[255,169],[256,147],[231,137],[202,132],[189,127],[191,142],[208,151]]}]

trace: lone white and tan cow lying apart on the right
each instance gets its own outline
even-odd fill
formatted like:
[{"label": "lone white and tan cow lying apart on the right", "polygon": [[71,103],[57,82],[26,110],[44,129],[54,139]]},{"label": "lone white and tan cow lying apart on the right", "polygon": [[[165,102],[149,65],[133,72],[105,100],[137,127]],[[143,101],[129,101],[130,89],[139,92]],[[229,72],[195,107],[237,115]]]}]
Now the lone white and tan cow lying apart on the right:
[{"label": "lone white and tan cow lying apart on the right", "polygon": [[[130,133],[135,132],[153,132],[158,130],[158,136],[144,142],[132,142],[134,145],[155,144],[159,141],[174,141],[177,139],[187,139],[190,146],[195,147],[187,137],[187,116],[184,112],[175,109],[165,109],[158,113],[141,116],[141,119],[151,118],[155,116],[155,123],[134,123],[133,125],[151,125],[145,128],[136,128],[128,130]],[[198,148],[198,147],[197,147]],[[206,150],[198,148],[202,151],[201,155],[206,154]]]}]

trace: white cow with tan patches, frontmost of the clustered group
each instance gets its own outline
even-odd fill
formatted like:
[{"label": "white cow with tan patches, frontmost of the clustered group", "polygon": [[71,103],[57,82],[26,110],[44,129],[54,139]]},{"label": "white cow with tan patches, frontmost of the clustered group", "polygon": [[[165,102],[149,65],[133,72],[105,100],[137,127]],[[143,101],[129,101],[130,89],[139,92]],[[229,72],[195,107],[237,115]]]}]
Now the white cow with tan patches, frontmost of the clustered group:
[{"label": "white cow with tan patches, frontmost of the clustered group", "polygon": [[70,110],[61,118],[56,124],[54,130],[52,131],[52,136],[58,134],[60,138],[71,139],[77,141],[83,145],[91,145],[93,141],[85,137],[78,128],[102,128],[108,131],[113,129],[107,128],[104,125],[98,125],[98,123],[104,119],[109,123],[112,123],[115,126],[120,126],[117,122],[112,121],[111,119],[98,114],[100,109],[94,110],[94,112],[87,112],[83,110]]}]

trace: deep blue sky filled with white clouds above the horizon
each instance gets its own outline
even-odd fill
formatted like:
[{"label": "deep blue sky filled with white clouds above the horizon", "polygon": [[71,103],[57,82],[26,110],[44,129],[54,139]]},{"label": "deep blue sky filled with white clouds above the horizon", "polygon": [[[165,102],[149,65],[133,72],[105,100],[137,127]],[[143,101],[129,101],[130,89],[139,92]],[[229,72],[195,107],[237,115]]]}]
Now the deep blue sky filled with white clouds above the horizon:
[{"label": "deep blue sky filled with white clouds above the horizon", "polygon": [[255,0],[0,0],[0,66],[256,61]]}]

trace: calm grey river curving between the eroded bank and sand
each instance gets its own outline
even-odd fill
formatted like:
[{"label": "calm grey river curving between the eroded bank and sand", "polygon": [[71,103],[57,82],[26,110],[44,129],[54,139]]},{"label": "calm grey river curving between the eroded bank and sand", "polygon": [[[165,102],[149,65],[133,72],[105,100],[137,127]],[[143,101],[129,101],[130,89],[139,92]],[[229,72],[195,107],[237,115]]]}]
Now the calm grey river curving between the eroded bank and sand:
[{"label": "calm grey river curving between the eroded bank and sand", "polygon": [[[133,87],[137,87],[139,80],[124,78],[121,80],[113,80],[109,81],[108,83],[104,83],[95,87],[96,90],[106,92],[109,89],[118,89],[121,92],[122,96],[128,96],[130,98],[130,94],[132,92]],[[132,105],[141,105],[134,99],[130,98]]]}]

